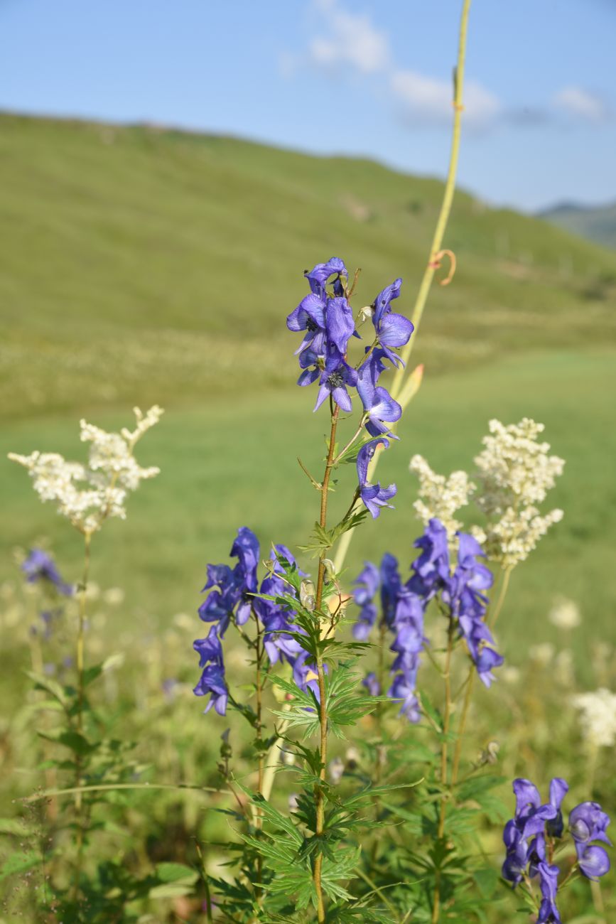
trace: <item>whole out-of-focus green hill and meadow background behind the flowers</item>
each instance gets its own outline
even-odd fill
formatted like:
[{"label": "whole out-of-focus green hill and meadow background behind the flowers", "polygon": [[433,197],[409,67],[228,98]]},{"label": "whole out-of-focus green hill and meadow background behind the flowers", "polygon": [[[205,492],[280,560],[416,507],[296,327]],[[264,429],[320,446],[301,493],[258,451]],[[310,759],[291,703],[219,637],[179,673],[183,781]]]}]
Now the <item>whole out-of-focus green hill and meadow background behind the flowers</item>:
[{"label": "whole out-of-focus green hill and meadow background behind the flowers", "polygon": [[[160,476],[131,498],[126,522],[110,521],[94,539],[91,577],[103,592],[92,591],[88,657],[120,656],[97,696],[114,734],[138,742],[131,779],[218,785],[227,724],[241,777],[247,739],[235,717],[203,719],[191,693],[199,675],[191,642],[203,634],[196,610],[206,564],[228,560],[237,527],[254,529],[264,552],[271,542],[294,549],[316,518],[318,498],[296,456],[319,471],[324,419],[312,414],[314,394],[296,387],[297,336],[285,317],[306,291],[302,271],[332,254],[362,268],[356,309],[400,274],[400,309],[410,313],[441,183],[368,161],[145,126],[2,116],[0,128],[0,458],[34,449],[80,458],[81,416],[116,429],[130,424],[133,405],[165,407],[138,452]],[[398,485],[396,511],[358,531],[345,579],[385,551],[406,573],[421,531],[413,454],[437,471],[472,470],[490,418],[544,422],[552,451],[566,459],[550,494],[565,516],[513,572],[498,626],[507,673],[498,699],[478,691],[465,760],[494,739],[508,779],[544,781],[566,767],[576,795],[594,791],[609,806],[608,752],[588,753],[573,705],[562,704],[576,688],[614,680],[614,253],[464,192],[446,244],[458,269],[451,286],[433,287],[412,360],[424,363],[424,380],[380,467],[380,479]],[[352,422],[344,426],[350,432]],[[3,796],[17,797],[41,784],[29,734],[36,695],[23,673],[36,660],[36,603],[20,588],[19,550],[42,541],[73,581],[82,550],[23,469],[0,464],[0,755]],[[582,615],[564,634],[548,619],[562,596]],[[61,665],[72,632],[68,622],[46,655],[60,677],[70,675]],[[242,679],[246,659],[231,638],[225,657]],[[439,696],[433,679],[426,663],[420,683]],[[388,721],[397,736],[400,721]],[[370,722],[362,736],[373,733]],[[346,748],[332,754],[344,760]],[[509,806],[510,784],[499,794]],[[284,784],[274,799],[284,804]],[[226,805],[223,797],[211,804]],[[230,836],[223,816],[204,808],[199,795],[116,794],[101,812],[91,867],[113,856],[141,875],[161,860],[194,862],[195,833],[204,843]],[[115,819],[128,820],[129,841]],[[482,843],[497,869],[494,819]],[[215,843],[207,857],[218,869]],[[15,880],[7,906],[27,906]],[[498,896],[502,919],[515,899]],[[153,919],[201,919],[178,902],[167,900],[163,918],[159,902]],[[575,913],[588,910],[583,888],[569,902]]]}]

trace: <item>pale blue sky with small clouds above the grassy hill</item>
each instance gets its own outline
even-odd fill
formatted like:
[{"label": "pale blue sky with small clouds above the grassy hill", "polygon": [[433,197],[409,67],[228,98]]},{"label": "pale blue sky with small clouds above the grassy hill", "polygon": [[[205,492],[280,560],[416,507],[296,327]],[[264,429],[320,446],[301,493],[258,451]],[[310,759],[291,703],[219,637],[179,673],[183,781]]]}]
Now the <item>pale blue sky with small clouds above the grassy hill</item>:
[{"label": "pale blue sky with small clouds above the grassy hill", "polygon": [[[442,176],[461,0],[0,0],[0,108]],[[474,0],[460,181],[616,200],[616,0]]]}]

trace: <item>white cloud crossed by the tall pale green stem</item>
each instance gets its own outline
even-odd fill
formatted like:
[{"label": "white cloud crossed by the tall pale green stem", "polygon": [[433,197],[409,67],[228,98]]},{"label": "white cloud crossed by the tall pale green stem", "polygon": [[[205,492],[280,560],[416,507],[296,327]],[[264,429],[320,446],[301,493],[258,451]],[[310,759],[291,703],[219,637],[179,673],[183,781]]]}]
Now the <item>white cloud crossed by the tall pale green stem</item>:
[{"label": "white cloud crossed by the tall pale green stem", "polygon": [[[413,70],[396,70],[391,76],[390,86],[408,116],[435,125],[451,122],[451,81],[426,77]],[[465,83],[464,106],[465,122],[475,128],[487,126],[501,115],[501,103],[497,97],[475,80]]]}]

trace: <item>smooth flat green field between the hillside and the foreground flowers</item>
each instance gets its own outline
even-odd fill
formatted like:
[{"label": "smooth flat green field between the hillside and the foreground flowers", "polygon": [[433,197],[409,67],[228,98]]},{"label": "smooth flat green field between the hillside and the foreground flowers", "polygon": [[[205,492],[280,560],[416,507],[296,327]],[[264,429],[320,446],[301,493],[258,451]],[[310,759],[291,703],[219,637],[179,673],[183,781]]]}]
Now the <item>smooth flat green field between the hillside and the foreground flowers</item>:
[{"label": "smooth flat green field between the hillside and the foreground flowers", "polygon": [[[359,570],[363,557],[380,558],[386,550],[410,562],[411,543],[421,531],[411,508],[416,484],[407,471],[413,453],[427,456],[437,470],[472,468],[489,418],[510,421],[530,415],[546,423],[553,451],[567,460],[551,496],[565,518],[515,571],[501,638],[514,658],[523,657],[533,640],[552,638],[555,630],[546,614],[554,596],[565,594],[580,602],[585,617],[578,645],[581,664],[592,638],[616,642],[616,577],[610,568],[616,489],[608,464],[616,452],[615,388],[614,353],[597,348],[515,356],[429,377],[406,414],[400,443],[380,468],[382,480],[398,485],[396,510],[358,531],[349,575]],[[117,415],[97,419],[109,426],[123,422]],[[153,613],[161,626],[178,611],[193,612],[206,563],[226,560],[238,526],[255,529],[264,546],[284,541],[294,547],[305,541],[317,517],[318,496],[296,455],[318,470],[324,425],[324,417],[311,415],[308,393],[291,386],[286,394],[263,391],[216,407],[167,413],[140,454],[145,464],[160,465],[160,477],[131,499],[127,521],[110,522],[94,545],[95,579],[127,590],[125,627],[129,618],[139,634],[143,612]],[[3,455],[9,448],[29,452],[35,447],[79,454],[84,447],[77,420],[13,423],[0,441]],[[355,472],[343,468],[340,477],[342,505]],[[5,576],[10,546],[42,534],[77,575],[79,537],[73,538],[53,505],[38,502],[18,466],[6,467],[0,505],[11,524],[4,536]]]}]

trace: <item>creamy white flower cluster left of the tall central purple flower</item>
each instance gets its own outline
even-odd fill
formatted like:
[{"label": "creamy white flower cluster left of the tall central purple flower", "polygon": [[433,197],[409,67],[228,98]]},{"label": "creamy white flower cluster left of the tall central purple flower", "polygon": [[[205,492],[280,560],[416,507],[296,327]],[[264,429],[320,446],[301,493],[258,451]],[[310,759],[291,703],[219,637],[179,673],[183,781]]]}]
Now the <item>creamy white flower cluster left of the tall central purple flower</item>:
[{"label": "creamy white flower cluster left of the tall central purple flower", "polygon": [[126,499],[142,479],[158,475],[159,468],[140,468],[133,450],[140,437],[161,419],[155,405],[147,414],[135,407],[137,426],[133,432],[108,433],[85,420],[80,421],[81,440],[90,443],[87,465],[67,462],[57,453],[33,452],[30,456],[9,453],[8,457],[28,468],[34,490],[42,501],[54,501],[58,513],[80,532],[100,529],[106,517],[127,516]]}]

